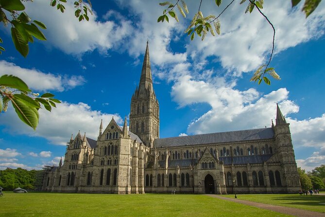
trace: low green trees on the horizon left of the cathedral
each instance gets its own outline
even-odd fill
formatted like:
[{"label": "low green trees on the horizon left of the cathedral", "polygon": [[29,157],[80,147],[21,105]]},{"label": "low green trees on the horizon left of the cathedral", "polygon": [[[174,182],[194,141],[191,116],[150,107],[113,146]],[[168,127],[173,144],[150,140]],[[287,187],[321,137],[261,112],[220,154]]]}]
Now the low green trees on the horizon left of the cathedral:
[{"label": "low green trees on the horizon left of the cathedral", "polygon": [[0,170],[0,186],[6,191],[12,191],[17,187],[34,189],[36,170],[22,168]]}]

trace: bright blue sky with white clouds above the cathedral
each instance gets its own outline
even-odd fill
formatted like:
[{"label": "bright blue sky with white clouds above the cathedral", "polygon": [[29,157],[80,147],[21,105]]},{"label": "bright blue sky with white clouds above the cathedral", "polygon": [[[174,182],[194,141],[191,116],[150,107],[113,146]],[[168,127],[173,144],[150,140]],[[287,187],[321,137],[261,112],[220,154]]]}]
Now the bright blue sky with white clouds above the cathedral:
[{"label": "bright blue sky with white clouds above the cathedral", "polygon": [[[41,168],[58,163],[71,134],[96,139],[101,119],[118,124],[130,112],[149,40],[154,90],[160,104],[160,137],[270,127],[279,104],[291,125],[298,166],[325,164],[324,48],[325,3],[307,19],[291,1],[265,1],[273,22],[271,66],[282,78],[272,85],[249,82],[269,58],[272,29],[256,10],[244,14],[236,2],[222,14],[220,36],[190,41],[184,30],[199,1],[188,1],[180,22],[157,23],[163,7],[155,0],[92,0],[94,15],[78,22],[69,1],[61,14],[49,1],[26,3],[27,14],[44,22],[47,41],[35,41],[24,58],[9,28],[0,27],[6,52],[0,74],[15,74],[37,93],[51,92],[63,103],[40,110],[34,131],[12,107],[0,114],[0,169]],[[203,1],[205,16],[218,15],[214,1]]]}]

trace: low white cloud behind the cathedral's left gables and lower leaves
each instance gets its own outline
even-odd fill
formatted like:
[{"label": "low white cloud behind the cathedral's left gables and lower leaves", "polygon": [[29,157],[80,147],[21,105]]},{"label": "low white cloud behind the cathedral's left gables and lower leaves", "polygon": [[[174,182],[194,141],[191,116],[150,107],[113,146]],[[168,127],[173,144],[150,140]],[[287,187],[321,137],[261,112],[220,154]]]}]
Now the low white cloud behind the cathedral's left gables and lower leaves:
[{"label": "low white cloud behind the cathedral's left gables and lower leaves", "polygon": [[63,102],[57,104],[56,107],[51,112],[45,109],[39,110],[39,124],[35,131],[18,119],[10,105],[7,112],[1,114],[0,125],[4,125],[4,131],[8,133],[43,137],[54,145],[66,145],[71,133],[76,135],[79,130],[82,133],[86,132],[87,137],[96,139],[101,119],[103,119],[104,124],[108,124],[114,116],[118,124],[123,124],[119,114],[107,114],[92,110],[85,103],[69,104]]}]

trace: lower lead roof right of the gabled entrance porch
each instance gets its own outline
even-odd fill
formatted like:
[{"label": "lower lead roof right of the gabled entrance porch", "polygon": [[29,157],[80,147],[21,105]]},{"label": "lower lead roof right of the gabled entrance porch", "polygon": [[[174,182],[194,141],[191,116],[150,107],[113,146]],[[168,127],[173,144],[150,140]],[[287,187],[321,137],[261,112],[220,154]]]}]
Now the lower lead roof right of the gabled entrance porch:
[{"label": "lower lead roof right of the gabled entrance porch", "polygon": [[[249,155],[249,156],[234,156],[234,164],[247,164],[247,163],[264,163],[268,161],[273,154],[264,155]],[[231,157],[219,157],[219,161],[222,161],[224,165],[231,165]]]}]

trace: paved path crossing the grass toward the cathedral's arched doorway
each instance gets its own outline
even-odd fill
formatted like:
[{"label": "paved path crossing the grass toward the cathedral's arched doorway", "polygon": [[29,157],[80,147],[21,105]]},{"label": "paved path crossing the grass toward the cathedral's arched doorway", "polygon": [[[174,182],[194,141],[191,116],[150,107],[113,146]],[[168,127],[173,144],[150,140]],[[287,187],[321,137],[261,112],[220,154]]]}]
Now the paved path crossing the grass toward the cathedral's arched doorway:
[{"label": "paved path crossing the grass toward the cathedral's arched doorway", "polygon": [[208,195],[208,196],[210,196],[212,198],[225,199],[225,200],[229,200],[232,202],[242,203],[242,204],[249,205],[249,206],[255,206],[255,207],[258,207],[261,209],[272,210],[274,212],[283,213],[283,214],[291,215],[291,216],[325,217],[325,213],[318,213],[318,212],[314,212],[314,211],[296,209],[296,208],[285,207],[285,206],[276,206],[276,205],[265,204],[265,203],[257,203],[257,202],[235,199],[235,198],[225,198],[225,197],[218,196],[218,195]]}]

